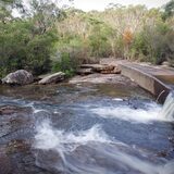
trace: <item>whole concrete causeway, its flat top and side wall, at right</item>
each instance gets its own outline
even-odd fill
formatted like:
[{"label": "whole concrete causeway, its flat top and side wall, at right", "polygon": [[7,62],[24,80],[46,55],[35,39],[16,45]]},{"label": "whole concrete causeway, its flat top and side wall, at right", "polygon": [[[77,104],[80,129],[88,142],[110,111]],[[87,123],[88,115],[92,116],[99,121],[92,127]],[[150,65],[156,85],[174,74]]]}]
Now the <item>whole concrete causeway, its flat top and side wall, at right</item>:
[{"label": "whole concrete causeway, its flat top and side wall, at right", "polygon": [[129,77],[140,87],[151,92],[163,103],[174,88],[174,69],[150,63],[135,63],[126,60],[102,59],[101,64],[119,65],[122,75]]}]

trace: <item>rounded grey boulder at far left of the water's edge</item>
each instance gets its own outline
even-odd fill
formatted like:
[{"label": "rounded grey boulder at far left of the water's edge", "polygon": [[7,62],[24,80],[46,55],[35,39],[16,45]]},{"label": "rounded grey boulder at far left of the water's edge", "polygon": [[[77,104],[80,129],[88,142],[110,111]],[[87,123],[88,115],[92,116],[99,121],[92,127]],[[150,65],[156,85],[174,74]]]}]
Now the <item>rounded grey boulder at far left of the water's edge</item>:
[{"label": "rounded grey boulder at far left of the water's edge", "polygon": [[26,85],[33,83],[33,75],[25,71],[18,70],[14,73],[8,74],[3,79],[2,84],[13,84],[13,85]]}]

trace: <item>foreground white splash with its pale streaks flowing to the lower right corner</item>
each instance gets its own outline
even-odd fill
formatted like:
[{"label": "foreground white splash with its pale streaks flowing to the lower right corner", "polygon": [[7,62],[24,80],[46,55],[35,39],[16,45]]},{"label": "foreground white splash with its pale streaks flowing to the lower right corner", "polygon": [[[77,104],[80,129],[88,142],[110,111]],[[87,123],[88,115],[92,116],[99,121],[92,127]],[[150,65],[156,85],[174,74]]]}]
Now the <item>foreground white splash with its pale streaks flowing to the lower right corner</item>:
[{"label": "foreground white splash with its pale streaks flowing to the lower right corner", "polygon": [[[59,153],[63,164],[60,167],[60,161],[54,162],[54,164],[51,163],[51,167],[53,165],[58,171],[62,170],[67,174],[114,174],[114,169],[110,169],[110,166],[117,166],[123,171],[130,169],[136,173],[138,171],[144,174],[174,174],[174,161],[157,164],[148,161],[145,154],[134,156],[136,149],[111,140],[99,125],[95,125],[88,130],[67,133],[52,127],[51,123],[45,120],[37,126],[34,148],[48,151],[48,153],[49,150]],[[147,156],[149,154],[147,153]],[[46,160],[47,158],[38,161],[45,163]],[[103,165],[103,160],[111,165]]]}]

